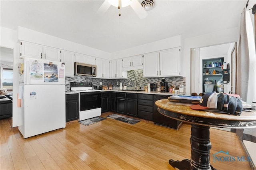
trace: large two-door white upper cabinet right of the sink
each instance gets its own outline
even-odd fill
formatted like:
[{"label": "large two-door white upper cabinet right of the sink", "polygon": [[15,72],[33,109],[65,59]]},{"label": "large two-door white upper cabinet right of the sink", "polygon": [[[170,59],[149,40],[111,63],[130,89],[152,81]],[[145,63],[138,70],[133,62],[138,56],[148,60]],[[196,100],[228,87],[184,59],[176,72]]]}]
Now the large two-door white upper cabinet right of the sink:
[{"label": "large two-door white upper cabinet right of the sink", "polygon": [[144,55],[144,77],[180,76],[180,47]]}]

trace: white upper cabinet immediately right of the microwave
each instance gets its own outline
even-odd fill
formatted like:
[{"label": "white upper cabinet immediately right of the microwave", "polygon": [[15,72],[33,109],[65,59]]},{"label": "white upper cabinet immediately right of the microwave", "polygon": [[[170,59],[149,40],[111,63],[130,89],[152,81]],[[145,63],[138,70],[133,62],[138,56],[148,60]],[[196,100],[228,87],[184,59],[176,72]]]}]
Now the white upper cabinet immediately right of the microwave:
[{"label": "white upper cabinet immediately right of the microwave", "polygon": [[110,62],[106,59],[96,58],[96,78],[108,79],[109,77],[109,64]]}]

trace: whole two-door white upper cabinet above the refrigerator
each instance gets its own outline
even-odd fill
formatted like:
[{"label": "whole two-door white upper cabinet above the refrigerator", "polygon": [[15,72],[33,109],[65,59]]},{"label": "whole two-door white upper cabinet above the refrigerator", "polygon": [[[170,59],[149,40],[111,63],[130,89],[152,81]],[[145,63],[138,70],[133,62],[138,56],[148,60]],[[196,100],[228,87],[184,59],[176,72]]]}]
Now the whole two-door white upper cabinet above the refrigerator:
[{"label": "whole two-door white upper cabinet above the refrigerator", "polygon": [[60,49],[20,42],[20,56],[60,61]]}]

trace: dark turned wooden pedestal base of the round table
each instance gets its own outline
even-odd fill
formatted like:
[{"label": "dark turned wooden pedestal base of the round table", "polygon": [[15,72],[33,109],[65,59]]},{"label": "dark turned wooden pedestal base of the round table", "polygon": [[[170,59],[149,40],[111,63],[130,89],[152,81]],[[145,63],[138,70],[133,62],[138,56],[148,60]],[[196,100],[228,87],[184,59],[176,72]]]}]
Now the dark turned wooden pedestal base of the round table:
[{"label": "dark turned wooden pedestal base of the round table", "polygon": [[169,160],[169,164],[179,170],[214,170],[210,165],[210,127],[191,125],[191,159]]}]

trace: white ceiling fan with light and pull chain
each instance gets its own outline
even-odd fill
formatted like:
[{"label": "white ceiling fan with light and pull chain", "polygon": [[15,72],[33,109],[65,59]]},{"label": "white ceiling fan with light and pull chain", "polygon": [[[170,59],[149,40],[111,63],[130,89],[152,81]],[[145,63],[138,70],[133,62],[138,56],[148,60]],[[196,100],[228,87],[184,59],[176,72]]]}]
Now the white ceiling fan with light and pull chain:
[{"label": "white ceiling fan with light and pull chain", "polygon": [[146,18],[146,16],[148,15],[148,13],[142,7],[140,2],[138,2],[138,0],[105,0],[98,9],[97,14],[105,13],[111,5],[119,9],[119,16],[121,16],[120,8],[124,8],[129,5],[132,7],[134,12],[138,15],[140,19]]}]

